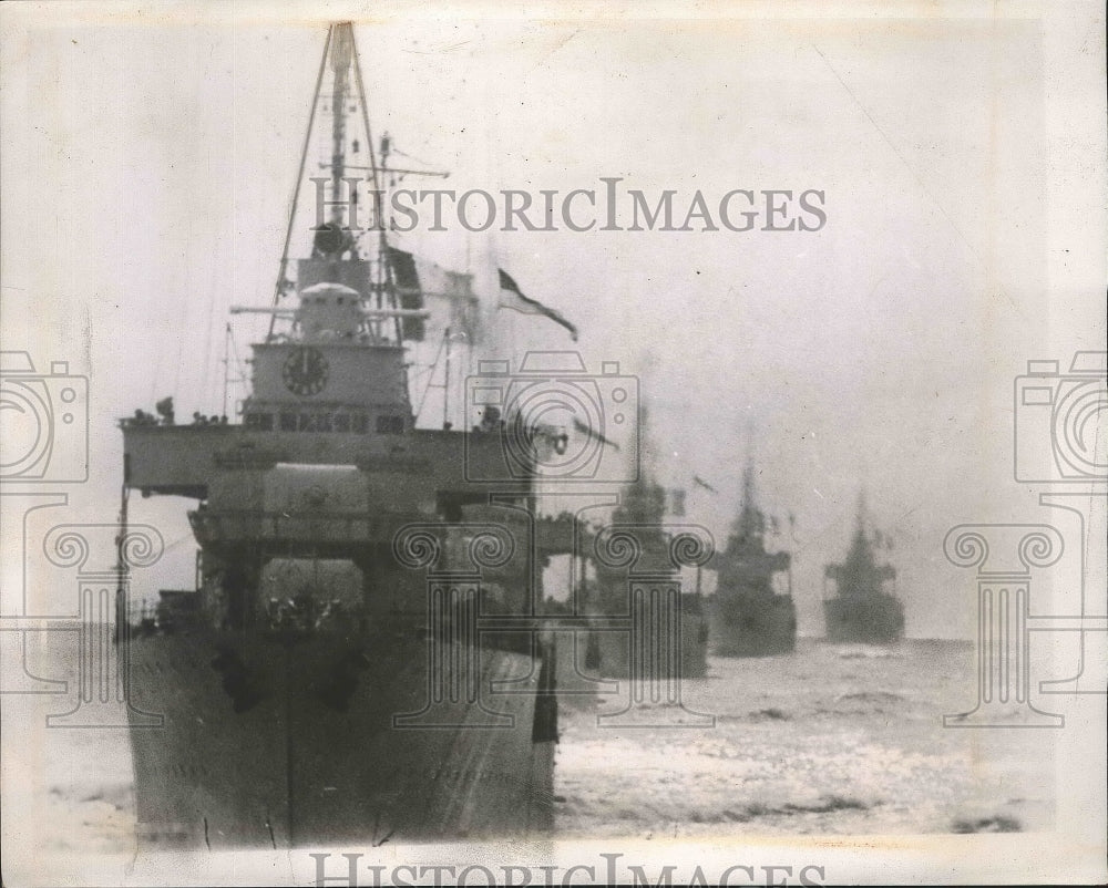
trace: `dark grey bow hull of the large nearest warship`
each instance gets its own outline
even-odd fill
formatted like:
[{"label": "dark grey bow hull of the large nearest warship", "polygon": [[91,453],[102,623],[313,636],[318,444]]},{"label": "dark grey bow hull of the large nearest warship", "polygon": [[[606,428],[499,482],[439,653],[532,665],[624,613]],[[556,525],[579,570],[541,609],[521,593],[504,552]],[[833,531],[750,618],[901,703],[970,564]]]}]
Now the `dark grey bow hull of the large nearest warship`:
[{"label": "dark grey bow hull of the large nearest warship", "polygon": [[[439,650],[432,675],[418,638],[132,639],[131,708],[164,720],[131,731],[140,840],[287,848],[548,830],[556,725],[541,662]],[[519,692],[494,693],[500,682]]]}]

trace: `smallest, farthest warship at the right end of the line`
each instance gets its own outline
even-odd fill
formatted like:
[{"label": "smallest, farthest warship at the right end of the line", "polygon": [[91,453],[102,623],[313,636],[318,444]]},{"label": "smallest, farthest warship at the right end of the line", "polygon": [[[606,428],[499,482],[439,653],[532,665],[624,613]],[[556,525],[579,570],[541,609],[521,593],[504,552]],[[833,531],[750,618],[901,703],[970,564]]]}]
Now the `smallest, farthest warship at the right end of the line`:
[{"label": "smallest, farthest warship at the right end of the line", "polygon": [[[864,498],[859,497],[854,537],[842,564],[824,570],[823,616],[827,639],[837,643],[883,644],[904,636],[904,605],[885,585],[896,579],[889,564],[879,564],[879,531],[865,529]],[[834,585],[829,595],[828,581]]]}]

